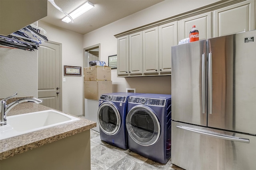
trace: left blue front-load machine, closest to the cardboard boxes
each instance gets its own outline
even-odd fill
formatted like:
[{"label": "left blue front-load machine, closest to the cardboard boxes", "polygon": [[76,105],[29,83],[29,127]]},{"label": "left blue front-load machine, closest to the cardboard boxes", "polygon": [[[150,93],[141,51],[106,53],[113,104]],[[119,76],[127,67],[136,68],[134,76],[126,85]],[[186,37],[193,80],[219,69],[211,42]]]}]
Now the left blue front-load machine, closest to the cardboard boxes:
[{"label": "left blue front-load machine, closest to the cardboard boxes", "polygon": [[126,131],[127,101],[131,95],[141,93],[102,94],[99,100],[98,123],[100,139],[122,149],[128,149]]}]

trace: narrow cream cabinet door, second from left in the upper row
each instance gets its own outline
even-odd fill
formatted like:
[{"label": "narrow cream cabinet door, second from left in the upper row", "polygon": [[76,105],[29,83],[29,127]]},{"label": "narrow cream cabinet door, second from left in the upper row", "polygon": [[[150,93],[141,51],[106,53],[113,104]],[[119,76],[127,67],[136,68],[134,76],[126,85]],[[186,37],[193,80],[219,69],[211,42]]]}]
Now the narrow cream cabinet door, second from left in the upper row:
[{"label": "narrow cream cabinet door, second from left in the upper row", "polygon": [[142,31],[129,35],[129,74],[142,74]]}]

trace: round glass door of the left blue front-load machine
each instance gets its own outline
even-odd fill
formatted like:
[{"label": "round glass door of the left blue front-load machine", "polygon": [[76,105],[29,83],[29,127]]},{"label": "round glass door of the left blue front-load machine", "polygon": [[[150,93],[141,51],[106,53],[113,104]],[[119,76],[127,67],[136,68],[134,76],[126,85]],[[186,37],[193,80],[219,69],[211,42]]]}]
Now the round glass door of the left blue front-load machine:
[{"label": "round glass door of the left blue front-load machine", "polygon": [[100,129],[108,134],[115,135],[121,126],[121,117],[116,106],[111,102],[105,102],[98,109],[98,122]]}]

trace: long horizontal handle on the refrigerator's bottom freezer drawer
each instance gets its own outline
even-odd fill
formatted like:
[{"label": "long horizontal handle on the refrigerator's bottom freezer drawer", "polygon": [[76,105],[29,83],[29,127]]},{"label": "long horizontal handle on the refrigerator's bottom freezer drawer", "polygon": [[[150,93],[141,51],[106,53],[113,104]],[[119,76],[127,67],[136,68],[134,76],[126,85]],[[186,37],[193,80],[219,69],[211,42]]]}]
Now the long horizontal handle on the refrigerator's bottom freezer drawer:
[{"label": "long horizontal handle on the refrigerator's bottom freezer drawer", "polygon": [[193,129],[189,129],[186,127],[182,127],[180,125],[176,125],[176,127],[178,129],[183,129],[185,131],[189,131],[189,132],[193,132],[193,133],[198,133],[200,135],[206,135],[206,136],[210,136],[210,137],[216,137],[219,139],[225,139],[225,140],[230,140],[230,141],[237,141],[237,142],[244,142],[244,143],[250,143],[249,139],[244,139],[244,138],[235,138],[235,137],[228,137],[228,136],[221,136],[221,135],[215,135],[215,134],[211,134],[211,133],[205,133],[205,132],[201,132],[201,131],[196,131]]}]

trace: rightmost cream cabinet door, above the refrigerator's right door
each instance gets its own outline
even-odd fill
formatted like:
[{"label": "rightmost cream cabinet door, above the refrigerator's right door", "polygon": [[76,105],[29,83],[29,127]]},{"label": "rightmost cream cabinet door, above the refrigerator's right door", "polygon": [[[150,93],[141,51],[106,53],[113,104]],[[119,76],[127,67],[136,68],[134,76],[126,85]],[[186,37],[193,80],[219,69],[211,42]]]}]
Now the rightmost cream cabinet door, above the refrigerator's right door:
[{"label": "rightmost cream cabinet door, above the refrigerator's right door", "polygon": [[254,29],[254,0],[213,11],[213,37]]}]

